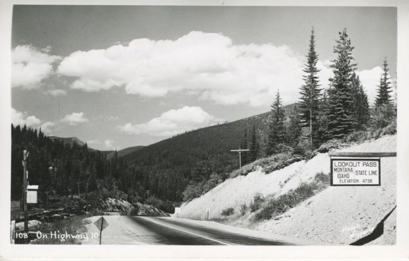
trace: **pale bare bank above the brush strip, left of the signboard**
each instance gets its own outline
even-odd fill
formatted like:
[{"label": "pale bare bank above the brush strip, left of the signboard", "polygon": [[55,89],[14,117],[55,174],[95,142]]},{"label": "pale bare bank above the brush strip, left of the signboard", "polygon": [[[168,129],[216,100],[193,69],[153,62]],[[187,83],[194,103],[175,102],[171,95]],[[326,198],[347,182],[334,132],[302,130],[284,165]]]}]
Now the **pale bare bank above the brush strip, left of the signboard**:
[{"label": "pale bare bank above the brush strip, left of the signboard", "polygon": [[299,161],[268,174],[259,169],[246,176],[228,179],[202,197],[182,205],[178,217],[205,220],[209,208],[209,219],[219,219],[225,208],[233,207],[235,212],[239,212],[240,205],[248,206],[256,193],[285,193],[297,188],[300,182],[312,180],[317,172],[329,173],[329,170],[327,154],[319,154],[307,162]]}]

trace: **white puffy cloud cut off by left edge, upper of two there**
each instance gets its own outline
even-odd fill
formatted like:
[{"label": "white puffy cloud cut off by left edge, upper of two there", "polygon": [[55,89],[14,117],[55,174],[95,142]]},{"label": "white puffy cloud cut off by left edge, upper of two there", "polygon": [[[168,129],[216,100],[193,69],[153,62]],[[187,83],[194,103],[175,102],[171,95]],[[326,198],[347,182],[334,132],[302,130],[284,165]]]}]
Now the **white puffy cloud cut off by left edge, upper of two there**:
[{"label": "white puffy cloud cut off by left edge, upper of two there", "polygon": [[50,47],[38,51],[35,47],[17,46],[12,54],[12,86],[22,86],[25,89],[38,88],[38,83],[53,73],[52,64],[61,59],[50,55]]}]

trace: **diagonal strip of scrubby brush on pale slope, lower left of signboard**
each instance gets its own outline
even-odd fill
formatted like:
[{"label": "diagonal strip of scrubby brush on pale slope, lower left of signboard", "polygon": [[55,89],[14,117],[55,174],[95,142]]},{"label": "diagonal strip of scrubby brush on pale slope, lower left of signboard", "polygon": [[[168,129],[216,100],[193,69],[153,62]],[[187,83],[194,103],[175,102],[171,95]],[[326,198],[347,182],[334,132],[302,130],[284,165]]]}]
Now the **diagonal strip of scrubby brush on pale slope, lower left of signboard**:
[{"label": "diagonal strip of scrubby brush on pale slope, lower left of signboard", "polygon": [[301,183],[294,190],[279,197],[269,198],[255,214],[255,220],[269,220],[272,217],[278,216],[290,208],[293,208],[312,197],[316,193],[322,191],[329,186],[329,175],[323,172],[315,175],[314,181],[311,183]]}]

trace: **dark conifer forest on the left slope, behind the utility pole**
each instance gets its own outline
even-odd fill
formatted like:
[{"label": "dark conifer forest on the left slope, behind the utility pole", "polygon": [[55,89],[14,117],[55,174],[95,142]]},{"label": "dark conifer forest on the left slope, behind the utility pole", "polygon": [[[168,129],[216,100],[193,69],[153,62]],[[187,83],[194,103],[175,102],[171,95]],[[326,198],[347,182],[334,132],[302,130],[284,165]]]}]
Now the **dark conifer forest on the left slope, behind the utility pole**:
[{"label": "dark conifer forest on the left slope, behind the utility pole", "polygon": [[158,198],[181,201],[181,193],[188,184],[183,176],[167,171],[129,164],[117,153],[107,159],[106,154],[77,143],[67,144],[50,139],[41,129],[11,125],[11,198],[20,200],[22,192],[22,151],[28,150],[29,184],[39,185],[39,197],[45,191],[55,195],[72,196],[80,192],[121,190],[142,201],[147,190]]}]

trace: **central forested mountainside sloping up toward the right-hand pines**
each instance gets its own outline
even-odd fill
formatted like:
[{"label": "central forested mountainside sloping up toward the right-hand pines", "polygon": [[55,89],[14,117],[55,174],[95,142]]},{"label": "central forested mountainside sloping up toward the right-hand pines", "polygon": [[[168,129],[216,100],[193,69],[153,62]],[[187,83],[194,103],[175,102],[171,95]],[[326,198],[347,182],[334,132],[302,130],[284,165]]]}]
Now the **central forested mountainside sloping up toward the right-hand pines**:
[{"label": "central forested mountainside sloping up toward the right-hand pines", "polygon": [[[290,111],[293,104],[284,108]],[[130,165],[128,173],[133,173],[129,179],[136,179],[138,187],[149,189],[158,198],[181,202],[185,188],[192,181],[217,182],[238,168],[238,155],[230,150],[248,148],[250,145],[244,141],[249,140],[252,128],[257,131],[256,142],[262,143],[269,117],[268,112],[192,130],[134,151],[122,157]],[[242,161],[246,163],[245,153]]]}]

